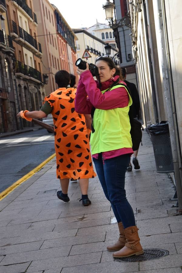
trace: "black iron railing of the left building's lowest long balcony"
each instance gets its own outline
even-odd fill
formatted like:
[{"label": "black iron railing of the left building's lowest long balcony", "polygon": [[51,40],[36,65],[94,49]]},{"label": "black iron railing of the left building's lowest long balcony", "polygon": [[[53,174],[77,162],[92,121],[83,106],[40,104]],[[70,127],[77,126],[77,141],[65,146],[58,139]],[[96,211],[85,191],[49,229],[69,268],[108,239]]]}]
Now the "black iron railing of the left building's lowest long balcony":
[{"label": "black iron railing of the left building's lowest long balcony", "polygon": [[41,74],[41,72],[39,72],[38,70],[36,70],[35,68],[31,66],[25,65],[24,63],[20,61],[16,61],[15,73],[22,73],[26,76],[37,79],[42,83],[45,81],[44,76]]}]

